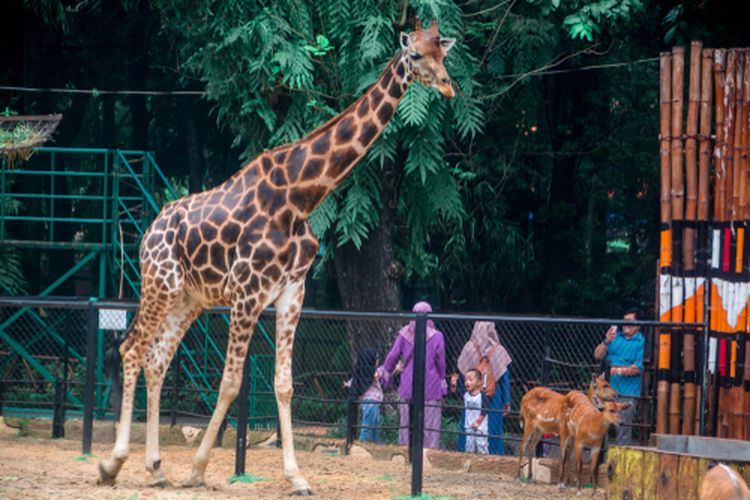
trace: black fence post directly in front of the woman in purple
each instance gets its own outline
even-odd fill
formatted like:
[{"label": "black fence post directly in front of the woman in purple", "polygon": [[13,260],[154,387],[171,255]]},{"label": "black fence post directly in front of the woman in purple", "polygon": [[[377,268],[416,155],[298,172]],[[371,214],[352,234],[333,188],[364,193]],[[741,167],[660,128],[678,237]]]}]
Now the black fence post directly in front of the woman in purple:
[{"label": "black fence post directly in front of the woman in purple", "polygon": [[417,315],[414,332],[414,365],[411,393],[411,496],[422,495],[422,450],[424,447],[424,361],[427,316]]}]

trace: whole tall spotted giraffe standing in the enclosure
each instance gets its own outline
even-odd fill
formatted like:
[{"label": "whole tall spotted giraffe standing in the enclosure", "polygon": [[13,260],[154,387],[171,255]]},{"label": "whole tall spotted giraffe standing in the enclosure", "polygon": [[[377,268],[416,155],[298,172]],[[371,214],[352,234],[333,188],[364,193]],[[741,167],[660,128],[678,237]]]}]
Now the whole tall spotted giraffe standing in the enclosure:
[{"label": "whole tall spotted giraffe standing in the enclosure", "polygon": [[128,457],[135,384],[143,368],[148,396],[146,470],[153,486],[169,486],[159,455],[159,398],[169,363],[204,308],[230,307],[226,364],[219,395],[184,487],[204,485],[211,447],[237,397],[256,321],[276,307],[274,392],[283,473],[293,494],[312,494],[294,455],[290,402],[292,344],[305,275],[318,252],[307,219],[339,185],[388,124],[413,82],[450,98],[444,59],[455,40],[437,22],[401,33],[401,51],[379,80],[349,108],[296,143],[265,151],[223,184],[164,206],[140,246],[141,300],[120,347],[123,398],[111,455],[99,463],[99,482],[114,484]]}]

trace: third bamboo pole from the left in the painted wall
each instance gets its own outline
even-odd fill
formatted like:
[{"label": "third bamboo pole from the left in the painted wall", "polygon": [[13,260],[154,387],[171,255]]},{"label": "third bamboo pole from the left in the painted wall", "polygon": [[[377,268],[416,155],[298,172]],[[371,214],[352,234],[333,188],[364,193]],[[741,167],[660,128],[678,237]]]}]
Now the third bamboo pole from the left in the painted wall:
[{"label": "third bamboo pole from the left in the painted wall", "polygon": [[[687,136],[685,139],[685,226],[682,238],[682,261],[685,272],[685,314],[684,320],[696,320],[697,294],[695,277],[695,227],[698,218],[698,107],[701,83],[701,42],[690,44],[690,84],[688,88]],[[687,291],[692,291],[688,303]],[[682,434],[693,433],[695,421],[695,330],[689,328],[683,337],[683,380],[685,398],[683,401]]]}]

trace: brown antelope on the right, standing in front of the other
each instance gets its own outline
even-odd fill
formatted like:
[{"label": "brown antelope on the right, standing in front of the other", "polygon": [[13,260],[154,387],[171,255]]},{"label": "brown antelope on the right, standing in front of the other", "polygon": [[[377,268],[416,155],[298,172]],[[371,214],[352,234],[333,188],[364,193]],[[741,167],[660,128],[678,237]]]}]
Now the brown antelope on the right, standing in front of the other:
[{"label": "brown antelope on the right, standing in front of the other", "polygon": [[[564,486],[562,469],[567,455],[568,442],[573,438],[575,448],[576,495],[581,494],[581,471],[583,469],[583,448],[591,448],[591,484],[592,493],[596,492],[597,472],[599,470],[599,453],[604,444],[604,436],[610,426],[620,425],[620,412],[629,408],[632,402],[615,403],[605,401],[604,408],[599,410],[582,393],[568,394],[566,398],[568,411],[564,411],[566,432],[560,433],[560,485]],[[563,439],[563,435],[565,438]]]}]

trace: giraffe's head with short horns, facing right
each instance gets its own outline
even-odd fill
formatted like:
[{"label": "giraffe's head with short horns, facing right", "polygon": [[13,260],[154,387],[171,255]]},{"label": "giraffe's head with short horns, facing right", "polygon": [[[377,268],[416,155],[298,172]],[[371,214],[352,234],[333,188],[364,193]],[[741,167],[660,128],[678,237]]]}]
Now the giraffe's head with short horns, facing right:
[{"label": "giraffe's head with short horns, facing right", "polygon": [[414,78],[422,85],[435,87],[444,97],[453,97],[453,85],[443,63],[455,38],[441,38],[435,20],[427,29],[422,29],[417,20],[414,31],[402,32],[400,40]]}]

